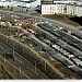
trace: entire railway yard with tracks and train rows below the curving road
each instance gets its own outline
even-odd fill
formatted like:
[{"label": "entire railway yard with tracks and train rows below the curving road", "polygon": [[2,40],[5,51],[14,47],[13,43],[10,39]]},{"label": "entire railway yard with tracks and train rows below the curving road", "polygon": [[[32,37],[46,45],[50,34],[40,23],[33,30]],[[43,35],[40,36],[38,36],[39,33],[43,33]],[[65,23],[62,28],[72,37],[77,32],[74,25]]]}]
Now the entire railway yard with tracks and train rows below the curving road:
[{"label": "entire railway yard with tracks and train rows below the curving road", "polygon": [[82,79],[81,35],[42,17],[0,11],[0,79]]}]

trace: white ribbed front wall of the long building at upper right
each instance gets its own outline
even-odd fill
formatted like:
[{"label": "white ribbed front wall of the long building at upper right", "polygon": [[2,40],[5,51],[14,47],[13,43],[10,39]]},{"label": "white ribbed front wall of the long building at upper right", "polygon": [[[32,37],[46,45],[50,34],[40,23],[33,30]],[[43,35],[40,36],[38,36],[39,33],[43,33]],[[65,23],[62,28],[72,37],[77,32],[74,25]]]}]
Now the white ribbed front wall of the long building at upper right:
[{"label": "white ribbed front wall of the long building at upper right", "polygon": [[[67,11],[65,13],[65,7]],[[71,14],[82,16],[82,7],[79,5],[68,5],[68,4],[42,4],[42,14],[55,14],[55,13],[62,13],[62,14]]]}]

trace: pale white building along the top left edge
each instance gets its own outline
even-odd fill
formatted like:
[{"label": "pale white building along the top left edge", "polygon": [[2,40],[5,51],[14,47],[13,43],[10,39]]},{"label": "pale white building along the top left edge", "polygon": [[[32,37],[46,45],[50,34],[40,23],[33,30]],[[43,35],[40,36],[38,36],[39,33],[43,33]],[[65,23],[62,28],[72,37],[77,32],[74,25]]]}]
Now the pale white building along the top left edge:
[{"label": "pale white building along the top left edge", "polygon": [[40,0],[1,0],[0,7],[35,8],[40,5]]}]

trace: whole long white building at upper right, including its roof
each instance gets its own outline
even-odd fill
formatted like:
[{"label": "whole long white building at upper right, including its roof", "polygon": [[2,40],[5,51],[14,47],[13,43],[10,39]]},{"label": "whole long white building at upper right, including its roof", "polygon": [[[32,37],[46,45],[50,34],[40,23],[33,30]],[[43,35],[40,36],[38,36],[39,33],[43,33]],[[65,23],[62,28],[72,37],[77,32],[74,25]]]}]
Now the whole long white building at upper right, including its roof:
[{"label": "whole long white building at upper right, including its roof", "polygon": [[42,4],[42,14],[56,13],[82,16],[82,2],[54,0],[52,3],[47,2]]}]

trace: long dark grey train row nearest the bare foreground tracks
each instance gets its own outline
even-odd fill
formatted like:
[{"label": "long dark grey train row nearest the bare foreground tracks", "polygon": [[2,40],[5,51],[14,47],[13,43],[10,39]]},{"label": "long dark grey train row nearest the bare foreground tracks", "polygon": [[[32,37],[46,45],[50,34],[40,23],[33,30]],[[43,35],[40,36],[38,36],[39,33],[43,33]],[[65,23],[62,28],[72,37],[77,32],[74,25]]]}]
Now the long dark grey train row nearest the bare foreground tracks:
[{"label": "long dark grey train row nearest the bare foreground tracks", "polygon": [[35,40],[34,38],[31,39],[31,43],[38,47],[39,49],[42,49],[43,51],[46,52],[47,56],[51,56],[52,58],[55,58],[56,60],[58,60],[59,62],[61,62],[63,66],[66,66],[68,69],[72,70],[73,72],[78,73],[80,79],[82,79],[82,70],[79,69],[75,66],[72,66],[68,60],[66,60],[65,58],[62,58],[58,52],[56,52],[55,50],[52,50],[49,47],[45,47],[43,44],[40,44],[39,42]]}]

